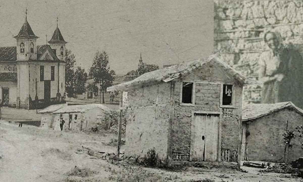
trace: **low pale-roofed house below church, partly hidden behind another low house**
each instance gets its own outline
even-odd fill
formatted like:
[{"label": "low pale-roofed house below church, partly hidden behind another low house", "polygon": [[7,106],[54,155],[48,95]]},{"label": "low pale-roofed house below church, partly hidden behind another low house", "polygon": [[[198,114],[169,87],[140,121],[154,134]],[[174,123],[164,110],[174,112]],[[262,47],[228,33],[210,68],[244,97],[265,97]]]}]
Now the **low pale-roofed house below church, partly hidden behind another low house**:
[{"label": "low pale-roofed house below church, partly hidden behind another low house", "polygon": [[66,103],[65,104],[55,104],[55,105],[48,106],[42,110],[39,110],[38,114],[42,114],[40,126],[42,128],[52,128],[52,121],[53,121],[52,113],[65,106],[67,106]]}]

